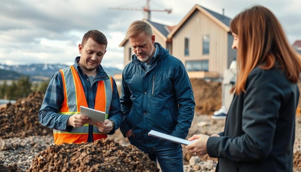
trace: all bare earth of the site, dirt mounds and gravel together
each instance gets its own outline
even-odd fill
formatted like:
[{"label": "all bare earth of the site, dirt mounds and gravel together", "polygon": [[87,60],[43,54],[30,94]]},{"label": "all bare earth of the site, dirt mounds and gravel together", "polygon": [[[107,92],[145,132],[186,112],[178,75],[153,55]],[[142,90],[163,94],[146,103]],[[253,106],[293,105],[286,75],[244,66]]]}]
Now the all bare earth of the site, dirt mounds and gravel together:
[{"label": "all bare earth of the site, dirt mounds and gravel together", "polygon": [[[222,132],[225,120],[212,120],[208,115],[200,115],[213,114],[220,108],[221,83],[198,79],[192,79],[191,83],[196,113],[188,137],[193,134],[211,135]],[[299,86],[301,87],[300,83]],[[73,171],[123,171],[123,168],[127,168],[127,171],[158,170],[154,163],[145,166],[144,161],[148,162],[149,159],[143,159],[146,156],[143,152],[139,152],[134,146],[128,146],[129,142],[120,130],[113,136],[108,136],[107,140],[94,143],[54,145],[52,130],[43,127],[38,120],[43,97],[41,92],[33,92],[27,98],[0,109],[0,172],[26,171],[30,167],[29,171],[68,171],[71,168]],[[301,108],[300,102],[298,108]],[[293,171],[301,171],[301,117],[298,114],[295,133]],[[126,166],[125,162],[130,165]],[[183,146],[183,162],[185,171],[213,171],[217,158],[208,155],[195,157]],[[140,168],[140,164],[143,164],[143,168]]]}]

